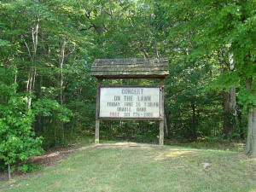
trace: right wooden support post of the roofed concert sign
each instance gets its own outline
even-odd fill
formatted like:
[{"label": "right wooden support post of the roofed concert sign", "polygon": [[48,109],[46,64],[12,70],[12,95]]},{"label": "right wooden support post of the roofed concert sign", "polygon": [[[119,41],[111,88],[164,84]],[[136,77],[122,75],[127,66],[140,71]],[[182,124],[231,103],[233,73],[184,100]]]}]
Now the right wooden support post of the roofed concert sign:
[{"label": "right wooden support post of the roofed concert sign", "polygon": [[159,144],[164,145],[164,125],[165,125],[165,95],[164,95],[164,79],[160,79],[161,84],[161,119],[159,125]]}]

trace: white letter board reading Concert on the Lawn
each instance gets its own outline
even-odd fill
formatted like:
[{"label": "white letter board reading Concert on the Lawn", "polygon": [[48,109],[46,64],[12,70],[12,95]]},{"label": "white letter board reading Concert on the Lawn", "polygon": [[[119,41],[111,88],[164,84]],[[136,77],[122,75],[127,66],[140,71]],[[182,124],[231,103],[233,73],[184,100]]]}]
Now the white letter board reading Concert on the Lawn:
[{"label": "white letter board reading Concert on the Lawn", "polygon": [[160,119],[160,87],[100,87],[99,118]]}]

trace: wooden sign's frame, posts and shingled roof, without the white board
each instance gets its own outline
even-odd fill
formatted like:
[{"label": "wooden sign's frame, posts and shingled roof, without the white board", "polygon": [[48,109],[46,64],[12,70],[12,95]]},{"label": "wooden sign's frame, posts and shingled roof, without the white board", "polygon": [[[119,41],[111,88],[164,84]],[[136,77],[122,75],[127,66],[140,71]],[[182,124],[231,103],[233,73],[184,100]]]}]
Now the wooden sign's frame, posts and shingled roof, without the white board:
[{"label": "wooden sign's frame, posts and shingled roof, without the white board", "polygon": [[[116,59],[96,59],[92,66],[90,75],[97,79],[96,95],[96,129],[95,143],[99,143],[99,103],[100,87],[102,79],[160,79],[160,118],[138,118],[121,120],[156,120],[160,122],[159,144],[164,144],[164,119],[165,119],[165,96],[164,79],[169,75],[169,62],[166,58],[116,58]],[[120,85],[123,87],[122,85]],[[133,86],[132,86],[133,87]],[[143,87],[143,86],[139,86]],[[107,118],[109,119],[109,118]],[[113,118],[111,118],[113,119]],[[120,118],[118,118],[120,119]]]}]

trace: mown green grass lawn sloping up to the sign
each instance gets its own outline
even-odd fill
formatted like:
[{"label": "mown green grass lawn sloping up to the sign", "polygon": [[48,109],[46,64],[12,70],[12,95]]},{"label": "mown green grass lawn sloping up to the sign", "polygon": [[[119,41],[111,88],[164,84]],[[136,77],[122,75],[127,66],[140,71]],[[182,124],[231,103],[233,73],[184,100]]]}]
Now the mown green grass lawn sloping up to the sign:
[{"label": "mown green grass lawn sloping up to the sign", "polygon": [[256,159],[222,150],[103,144],[80,148],[43,171],[0,181],[0,191],[253,192]]}]

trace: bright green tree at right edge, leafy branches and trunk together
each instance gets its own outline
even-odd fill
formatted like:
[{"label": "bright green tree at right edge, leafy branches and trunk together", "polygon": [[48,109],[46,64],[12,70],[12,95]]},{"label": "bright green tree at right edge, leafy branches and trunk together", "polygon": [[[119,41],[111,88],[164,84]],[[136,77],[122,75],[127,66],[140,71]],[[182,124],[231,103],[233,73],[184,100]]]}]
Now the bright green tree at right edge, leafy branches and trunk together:
[{"label": "bright green tree at right edge, leafy branches and trunk together", "polygon": [[[166,2],[165,2],[166,3]],[[194,57],[213,54],[229,46],[225,57],[233,55],[234,69],[218,78],[218,87],[240,87],[240,101],[248,108],[247,154],[255,156],[255,2],[253,1],[172,1],[169,14],[183,17],[173,26],[173,34],[193,34],[198,46]],[[172,34],[171,32],[171,34]],[[199,52],[200,51],[200,52]]]}]

